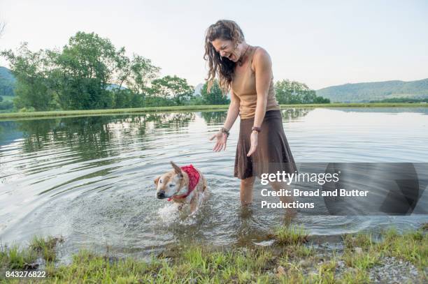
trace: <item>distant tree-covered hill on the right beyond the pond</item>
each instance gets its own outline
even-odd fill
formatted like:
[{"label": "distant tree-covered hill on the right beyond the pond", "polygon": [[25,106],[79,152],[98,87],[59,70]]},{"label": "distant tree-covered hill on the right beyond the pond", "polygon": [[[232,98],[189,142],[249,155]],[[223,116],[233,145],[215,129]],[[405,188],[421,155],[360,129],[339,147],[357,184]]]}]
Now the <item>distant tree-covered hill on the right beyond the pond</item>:
[{"label": "distant tree-covered hill on the right beyond the pond", "polygon": [[329,98],[331,103],[369,102],[387,98],[428,98],[428,79],[343,84],[319,89],[316,92],[317,96]]}]

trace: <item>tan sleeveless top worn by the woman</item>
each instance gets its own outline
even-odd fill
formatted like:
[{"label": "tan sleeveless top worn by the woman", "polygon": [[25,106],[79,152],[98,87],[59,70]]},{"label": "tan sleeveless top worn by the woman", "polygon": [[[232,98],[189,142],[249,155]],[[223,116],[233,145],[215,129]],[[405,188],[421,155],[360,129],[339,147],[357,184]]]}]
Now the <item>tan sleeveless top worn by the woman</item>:
[{"label": "tan sleeveless top worn by the woman", "polygon": [[[248,66],[242,74],[232,77],[231,89],[241,100],[239,104],[239,116],[241,119],[250,119],[255,117],[255,107],[257,105],[257,91],[255,84],[255,71],[251,69],[252,57],[254,56],[257,46],[250,54]],[[272,72],[272,70],[271,70]],[[275,89],[273,88],[273,75],[271,77],[271,84],[269,85],[266,112],[269,110],[279,110],[280,106],[275,96]]]}]

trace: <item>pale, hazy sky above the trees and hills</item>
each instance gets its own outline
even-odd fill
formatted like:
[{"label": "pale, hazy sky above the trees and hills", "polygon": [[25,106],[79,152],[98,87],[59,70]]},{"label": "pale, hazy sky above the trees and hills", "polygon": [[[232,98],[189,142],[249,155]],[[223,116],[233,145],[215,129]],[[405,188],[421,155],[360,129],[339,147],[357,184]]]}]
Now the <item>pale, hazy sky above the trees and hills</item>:
[{"label": "pale, hazy sky above the trees and hills", "polygon": [[[0,50],[61,48],[77,31],[109,38],[196,86],[204,36],[234,20],[272,59],[273,79],[332,85],[428,77],[428,1],[0,0]],[[0,66],[8,67],[0,59]]]}]

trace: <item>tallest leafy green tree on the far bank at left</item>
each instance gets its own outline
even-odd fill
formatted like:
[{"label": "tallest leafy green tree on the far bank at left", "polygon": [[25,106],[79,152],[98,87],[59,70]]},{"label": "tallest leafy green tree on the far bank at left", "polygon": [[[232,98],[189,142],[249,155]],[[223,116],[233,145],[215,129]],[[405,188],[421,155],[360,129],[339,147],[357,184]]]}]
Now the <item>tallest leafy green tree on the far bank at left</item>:
[{"label": "tallest leafy green tree on the far bank at left", "polygon": [[117,66],[117,51],[107,38],[79,31],[55,56],[53,86],[64,110],[90,110],[113,105],[109,81]]}]

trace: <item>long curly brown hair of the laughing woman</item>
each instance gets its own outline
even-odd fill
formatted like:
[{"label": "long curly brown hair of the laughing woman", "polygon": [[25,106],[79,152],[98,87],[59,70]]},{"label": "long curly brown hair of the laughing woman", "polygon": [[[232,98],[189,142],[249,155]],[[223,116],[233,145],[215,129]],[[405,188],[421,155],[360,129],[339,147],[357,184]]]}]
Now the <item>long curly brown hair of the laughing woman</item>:
[{"label": "long curly brown hair of the laughing woman", "polygon": [[220,57],[220,53],[211,44],[217,38],[231,40],[234,46],[242,43],[245,38],[241,28],[232,20],[218,20],[206,30],[204,59],[208,60],[209,67],[208,77],[206,78],[208,81],[207,90],[208,92],[210,91],[215,80],[215,75],[217,75],[220,82],[220,89],[222,89],[223,94],[227,94],[231,87],[236,63],[227,57]]}]

